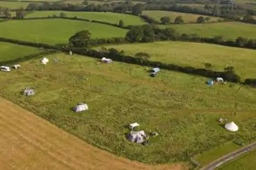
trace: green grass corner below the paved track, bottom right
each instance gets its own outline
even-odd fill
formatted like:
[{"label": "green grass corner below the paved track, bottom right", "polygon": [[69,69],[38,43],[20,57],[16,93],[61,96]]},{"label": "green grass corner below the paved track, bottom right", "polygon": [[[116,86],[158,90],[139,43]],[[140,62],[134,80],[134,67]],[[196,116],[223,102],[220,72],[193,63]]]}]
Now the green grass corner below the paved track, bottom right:
[{"label": "green grass corner below the paved track, bottom right", "polygon": [[256,169],[256,151],[246,153],[244,156],[232,160],[219,167],[218,170],[255,170]]}]

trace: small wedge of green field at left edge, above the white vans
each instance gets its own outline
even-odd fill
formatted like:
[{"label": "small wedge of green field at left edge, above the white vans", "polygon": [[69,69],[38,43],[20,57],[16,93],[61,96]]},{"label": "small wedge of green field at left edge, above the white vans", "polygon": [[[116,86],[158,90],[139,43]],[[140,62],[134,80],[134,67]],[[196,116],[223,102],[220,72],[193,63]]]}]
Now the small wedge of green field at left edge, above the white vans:
[{"label": "small wedge of green field at left edge, above the white vans", "polygon": [[23,56],[28,56],[30,54],[37,54],[39,52],[40,50],[37,48],[0,42],[0,63],[1,61],[9,61]]}]

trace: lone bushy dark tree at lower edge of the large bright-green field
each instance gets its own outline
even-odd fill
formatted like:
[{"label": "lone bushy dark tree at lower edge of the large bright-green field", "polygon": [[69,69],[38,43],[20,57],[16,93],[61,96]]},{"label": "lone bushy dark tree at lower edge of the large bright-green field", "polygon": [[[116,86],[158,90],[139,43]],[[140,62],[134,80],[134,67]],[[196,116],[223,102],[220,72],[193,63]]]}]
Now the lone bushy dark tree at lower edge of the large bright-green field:
[{"label": "lone bushy dark tree at lower edge of the large bright-green field", "polygon": [[91,39],[91,33],[88,30],[82,30],[75,33],[68,39],[68,43],[73,47],[88,47]]}]

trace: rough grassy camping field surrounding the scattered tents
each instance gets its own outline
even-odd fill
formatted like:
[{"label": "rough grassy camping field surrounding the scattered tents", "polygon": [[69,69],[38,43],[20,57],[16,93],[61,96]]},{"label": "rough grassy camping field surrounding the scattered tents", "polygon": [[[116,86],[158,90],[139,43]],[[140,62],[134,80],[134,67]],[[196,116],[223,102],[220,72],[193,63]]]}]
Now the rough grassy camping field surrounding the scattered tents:
[{"label": "rough grassy camping field surrounding the scattered tents", "polygon": [[[45,66],[31,60],[8,76],[0,72],[1,96],[118,156],[148,163],[188,162],[235,137],[217,122],[219,117],[237,123],[237,138],[243,142],[255,140],[256,89],[208,87],[208,78],[166,70],[151,78],[146,67],[98,65],[85,56],[47,57]],[[34,87],[36,95],[22,96],[25,87]],[[87,103],[89,111],[74,114],[70,108],[79,102]],[[160,136],[149,137],[148,147],[127,141],[126,125],[134,122]]]}]

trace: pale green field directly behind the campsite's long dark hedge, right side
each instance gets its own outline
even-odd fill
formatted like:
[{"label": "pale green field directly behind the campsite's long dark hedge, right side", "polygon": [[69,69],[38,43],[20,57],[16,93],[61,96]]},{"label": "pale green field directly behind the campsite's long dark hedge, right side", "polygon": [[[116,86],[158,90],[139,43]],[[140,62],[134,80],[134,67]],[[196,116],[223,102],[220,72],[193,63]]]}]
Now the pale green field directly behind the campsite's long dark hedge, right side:
[{"label": "pale green field directly behind the campsite's long dark hedge, right side", "polygon": [[[181,66],[204,67],[212,64],[212,70],[223,71],[224,67],[235,67],[241,78],[256,77],[256,51],[235,47],[225,47],[207,43],[156,42],[143,44],[110,45],[126,54],[147,52],[150,60],[174,63]],[[246,65],[246,67],[244,67]]]}]

